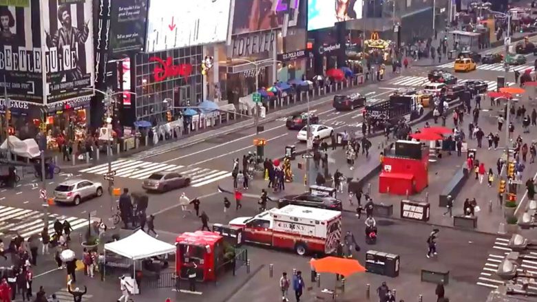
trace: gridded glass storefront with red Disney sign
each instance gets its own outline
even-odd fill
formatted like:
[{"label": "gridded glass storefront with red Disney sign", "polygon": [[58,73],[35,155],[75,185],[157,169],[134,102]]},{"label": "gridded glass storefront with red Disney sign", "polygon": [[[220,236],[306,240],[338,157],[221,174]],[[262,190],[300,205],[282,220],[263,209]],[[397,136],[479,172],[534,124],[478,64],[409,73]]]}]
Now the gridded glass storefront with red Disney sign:
[{"label": "gridded glass storefront with red Disney sign", "polygon": [[176,107],[196,106],[202,102],[203,58],[202,46],[137,54],[136,120],[156,125],[166,121],[168,109],[175,116],[180,111]]}]

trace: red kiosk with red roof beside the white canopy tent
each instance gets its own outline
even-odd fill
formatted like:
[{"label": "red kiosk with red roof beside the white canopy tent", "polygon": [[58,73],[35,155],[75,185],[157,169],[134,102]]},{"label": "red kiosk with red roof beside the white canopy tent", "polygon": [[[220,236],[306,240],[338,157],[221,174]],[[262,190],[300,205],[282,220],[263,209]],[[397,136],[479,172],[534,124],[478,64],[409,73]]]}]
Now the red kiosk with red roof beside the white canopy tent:
[{"label": "red kiosk with red roof beside the white canopy tent", "polygon": [[176,274],[188,279],[188,270],[196,263],[198,281],[215,280],[215,268],[224,259],[224,237],[202,230],[182,233],[176,239]]}]

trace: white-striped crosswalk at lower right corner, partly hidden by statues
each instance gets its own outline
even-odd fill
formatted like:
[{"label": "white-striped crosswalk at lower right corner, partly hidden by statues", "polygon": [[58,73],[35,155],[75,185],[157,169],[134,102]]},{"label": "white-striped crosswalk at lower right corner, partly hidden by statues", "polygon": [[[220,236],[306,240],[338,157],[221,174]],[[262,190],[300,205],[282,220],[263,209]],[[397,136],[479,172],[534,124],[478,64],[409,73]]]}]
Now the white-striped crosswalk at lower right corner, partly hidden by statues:
[{"label": "white-striped crosswalk at lower right corner, partly hidden by statues", "polygon": [[[487,288],[498,288],[498,286],[506,283],[505,280],[498,277],[496,271],[498,270],[498,265],[503,261],[505,256],[511,252],[511,249],[507,248],[508,244],[509,239],[501,237],[496,238],[494,246],[492,247],[494,248],[495,253],[487,256],[487,262],[485,262],[485,266],[483,266],[483,270],[481,270],[481,274],[476,282],[477,285],[485,286]],[[537,252],[529,252],[527,253],[527,256],[535,259],[522,259],[521,262],[518,260],[518,271],[522,272],[524,270],[530,274],[537,274]],[[522,283],[520,280],[516,280],[516,282],[520,284]],[[537,290],[537,283],[530,283],[529,289],[534,291]]]}]

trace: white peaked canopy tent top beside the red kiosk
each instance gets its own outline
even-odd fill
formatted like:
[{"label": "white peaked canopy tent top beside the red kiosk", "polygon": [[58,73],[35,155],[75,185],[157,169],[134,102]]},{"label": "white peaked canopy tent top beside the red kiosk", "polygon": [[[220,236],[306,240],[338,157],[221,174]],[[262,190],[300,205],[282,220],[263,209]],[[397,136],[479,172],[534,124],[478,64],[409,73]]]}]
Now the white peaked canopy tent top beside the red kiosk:
[{"label": "white peaked canopy tent top beside the red kiosk", "polygon": [[151,237],[143,230],[138,230],[125,239],[105,244],[105,250],[138,260],[176,252],[176,246]]}]

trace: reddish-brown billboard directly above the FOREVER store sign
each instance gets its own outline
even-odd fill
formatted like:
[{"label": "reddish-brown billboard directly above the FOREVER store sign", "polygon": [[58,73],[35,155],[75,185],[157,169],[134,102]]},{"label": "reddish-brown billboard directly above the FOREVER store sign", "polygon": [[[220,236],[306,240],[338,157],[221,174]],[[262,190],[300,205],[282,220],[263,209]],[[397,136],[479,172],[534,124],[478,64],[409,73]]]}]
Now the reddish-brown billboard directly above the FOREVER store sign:
[{"label": "reddish-brown billboard directly above the FOREVER store sign", "polygon": [[284,14],[290,9],[287,1],[295,1],[295,10],[288,26],[296,26],[299,0],[235,0],[232,34],[247,34],[281,28]]}]

